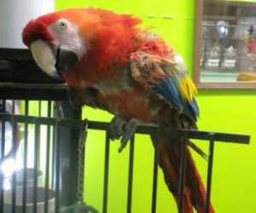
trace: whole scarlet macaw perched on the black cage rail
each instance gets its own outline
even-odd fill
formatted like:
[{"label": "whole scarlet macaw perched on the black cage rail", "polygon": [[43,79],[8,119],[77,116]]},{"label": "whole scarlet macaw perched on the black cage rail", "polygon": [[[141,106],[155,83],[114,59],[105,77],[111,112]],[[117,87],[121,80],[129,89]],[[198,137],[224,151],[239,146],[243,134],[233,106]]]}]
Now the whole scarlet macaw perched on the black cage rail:
[{"label": "whole scarlet macaw perched on the black cage rail", "polygon": [[[197,130],[196,87],[171,45],[143,28],[140,18],[111,10],[64,9],[44,14],[23,28],[22,40],[37,65],[67,83],[73,107],[94,107],[113,114],[112,140],[121,152],[141,124],[160,130]],[[176,135],[152,134],[166,186],[178,200],[181,144]],[[183,213],[205,212],[206,190],[186,141]],[[214,212],[210,204],[209,212]]]}]

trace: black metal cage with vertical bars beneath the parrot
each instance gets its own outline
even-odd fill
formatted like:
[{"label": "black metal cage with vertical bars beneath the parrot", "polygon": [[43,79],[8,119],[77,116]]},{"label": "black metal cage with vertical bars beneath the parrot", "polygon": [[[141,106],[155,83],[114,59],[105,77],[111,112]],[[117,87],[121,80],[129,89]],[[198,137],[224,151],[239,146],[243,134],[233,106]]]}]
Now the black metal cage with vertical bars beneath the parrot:
[{"label": "black metal cage with vertical bars beneath the parrot", "polygon": [[[39,76],[39,77],[38,77]],[[81,120],[81,110],[73,110],[69,107],[67,101],[66,86],[62,83],[55,82],[51,78],[44,76],[43,72],[38,70],[34,64],[32,56],[28,51],[23,49],[0,49],[0,100],[1,101],[1,160],[5,158],[6,145],[6,127],[10,124],[12,129],[11,147],[15,150],[17,141],[22,139],[23,147],[22,162],[23,170],[21,183],[22,196],[20,208],[22,213],[26,212],[27,203],[27,164],[29,162],[28,149],[31,146],[28,137],[30,129],[33,131],[33,159],[32,159],[32,212],[38,212],[38,173],[40,161],[42,161],[42,149],[44,149],[44,212],[49,210],[49,189],[55,193],[54,212],[59,212],[61,206],[73,204],[76,201],[79,185],[78,175],[78,150],[79,150],[79,134],[81,126],[84,124]],[[38,115],[28,116],[29,101],[38,101]],[[7,110],[7,101],[11,103],[9,113]],[[22,101],[23,113],[15,113],[15,103]],[[42,102],[46,101],[46,113],[42,117]],[[62,112],[60,111],[60,107]],[[62,114],[62,116],[60,116]],[[43,128],[44,127],[44,128]],[[22,129],[21,134],[18,131]],[[44,130],[43,130],[43,129]],[[105,131],[105,161],[103,183],[103,203],[101,212],[108,210],[108,168],[109,168],[109,135],[108,123],[104,122],[88,122],[90,130]],[[137,134],[152,135],[158,131],[156,126],[139,126]],[[18,134],[19,132],[19,134]],[[183,180],[185,175],[185,141],[187,138],[199,139],[209,142],[208,166],[207,166],[207,204],[205,212],[209,212],[211,181],[212,181],[212,162],[214,143],[216,141],[233,142],[233,143],[249,143],[248,135],[224,134],[216,132],[196,131],[196,130],[172,130],[172,135],[180,135],[183,137],[183,148],[181,153],[180,165],[180,181],[179,181],[179,205],[178,212],[183,212]],[[45,147],[42,147],[42,136],[44,136]],[[126,212],[131,212],[132,202],[132,181],[133,181],[133,160],[134,160],[134,144],[135,139],[132,137],[129,155],[129,176],[127,180],[127,208]],[[152,186],[152,203],[151,212],[156,212],[157,202],[157,176],[158,176],[158,146],[154,149],[154,173]],[[84,147],[86,149],[86,146]],[[84,151],[83,151],[84,152]],[[9,153],[9,157],[16,158],[16,152]],[[1,161],[0,161],[1,162]],[[84,162],[86,166],[86,162]],[[10,195],[10,211],[17,212],[17,175],[14,171],[9,179],[11,182]],[[24,181],[25,180],[25,181]],[[72,180],[72,181],[71,181]],[[4,212],[4,175],[0,170],[0,213]],[[85,189],[86,192],[86,189]],[[5,213],[5,212],[4,212]]]}]

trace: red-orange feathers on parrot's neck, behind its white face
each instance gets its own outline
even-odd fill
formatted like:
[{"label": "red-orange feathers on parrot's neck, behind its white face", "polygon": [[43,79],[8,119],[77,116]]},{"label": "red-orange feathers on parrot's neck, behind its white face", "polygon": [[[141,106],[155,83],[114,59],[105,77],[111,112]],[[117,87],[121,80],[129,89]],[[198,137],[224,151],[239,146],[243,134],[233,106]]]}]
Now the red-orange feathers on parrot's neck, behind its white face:
[{"label": "red-orange feathers on parrot's neck, behind its white face", "polygon": [[[134,50],[133,40],[141,23],[140,19],[131,15],[114,14],[102,9],[86,9],[86,16],[81,26],[81,33],[87,43],[87,51],[79,66],[75,69],[76,75],[64,73],[67,83],[73,86],[89,86],[101,78],[111,78],[116,74],[116,67],[126,66],[129,55]],[[84,14],[85,15],[85,14]],[[84,72],[86,64],[86,72]],[[82,73],[81,73],[82,72]]]}]

